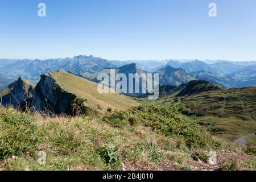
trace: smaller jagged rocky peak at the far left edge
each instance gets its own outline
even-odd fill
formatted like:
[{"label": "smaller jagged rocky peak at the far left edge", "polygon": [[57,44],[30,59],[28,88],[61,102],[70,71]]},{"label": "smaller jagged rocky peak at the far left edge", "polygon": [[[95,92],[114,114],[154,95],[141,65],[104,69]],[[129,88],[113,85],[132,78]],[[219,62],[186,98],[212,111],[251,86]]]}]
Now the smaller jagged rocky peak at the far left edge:
[{"label": "smaller jagged rocky peak at the far left edge", "polygon": [[35,84],[18,78],[18,80],[1,90],[0,102],[4,106],[20,107],[24,100],[33,97],[34,89]]}]

